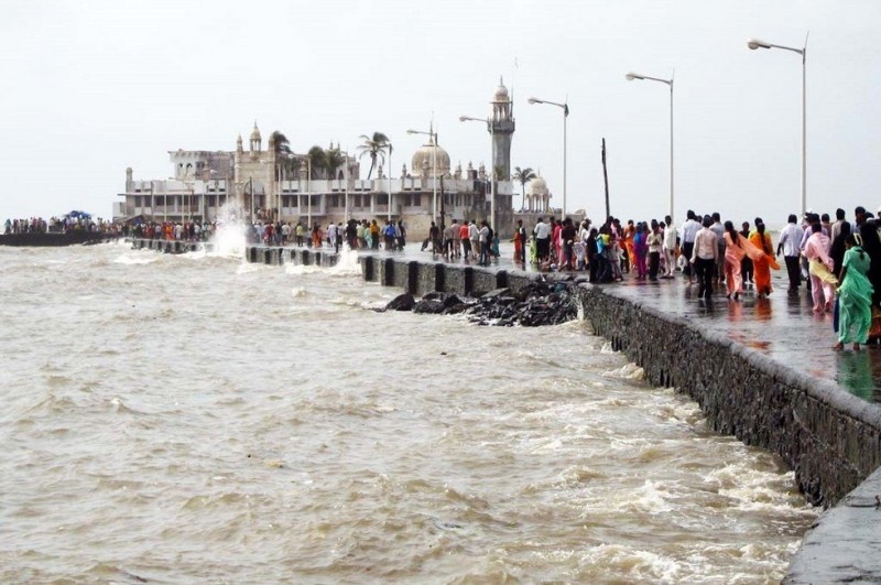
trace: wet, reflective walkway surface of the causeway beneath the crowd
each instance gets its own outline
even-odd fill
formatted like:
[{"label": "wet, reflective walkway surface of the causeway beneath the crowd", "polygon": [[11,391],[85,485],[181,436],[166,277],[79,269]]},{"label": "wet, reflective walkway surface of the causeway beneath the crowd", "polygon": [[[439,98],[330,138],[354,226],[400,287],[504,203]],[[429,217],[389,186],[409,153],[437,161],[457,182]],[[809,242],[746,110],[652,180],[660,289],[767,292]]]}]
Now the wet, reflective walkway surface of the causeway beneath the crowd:
[{"label": "wet, reflective walkway surface of the causeway beneath the crowd", "polygon": [[[461,259],[446,260],[440,254],[420,251],[418,243],[404,252],[391,253],[420,261],[468,263]],[[492,267],[503,270],[535,268],[511,260],[513,247],[503,245],[501,258]],[[585,274],[576,272],[576,274]],[[638,281],[634,274],[624,274],[619,283],[603,284],[621,294],[664,313],[699,319],[708,328],[725,332],[731,339],[769,356],[791,368],[809,376],[837,382],[850,393],[868,401],[881,402],[881,346],[863,347],[855,351],[831,348],[838,337],[833,331],[830,313],[813,311],[811,293],[803,284],[797,294],[786,291],[788,280],[785,270],[772,271],[774,292],[768,299],[758,299],[751,289],[744,290],[739,301],[726,299],[721,286],[709,301],[697,299],[697,284],[689,286],[679,272],[672,280]]]}]

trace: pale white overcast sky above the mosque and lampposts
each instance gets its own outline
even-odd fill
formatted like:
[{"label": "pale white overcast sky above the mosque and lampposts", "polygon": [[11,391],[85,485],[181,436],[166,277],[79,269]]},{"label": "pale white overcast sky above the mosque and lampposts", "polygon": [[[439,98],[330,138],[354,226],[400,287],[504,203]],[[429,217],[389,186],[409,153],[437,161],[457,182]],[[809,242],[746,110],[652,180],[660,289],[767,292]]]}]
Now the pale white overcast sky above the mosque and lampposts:
[{"label": "pale white overcast sky above the mosque and lampposts", "polygon": [[[801,206],[800,56],[807,51],[808,207],[875,209],[881,184],[881,2],[6,0],[0,4],[0,220],[85,209],[109,217],[166,151],[232,150],[257,119],[296,152],[384,132],[395,176],[434,113],[453,165],[489,165],[485,117],[514,91],[512,166],[541,170],[559,205],[568,99],[568,208],[667,208],[665,85],[675,68],[677,223],[687,208],[785,221]],[[514,63],[518,63],[515,68]],[[365,158],[365,162],[368,159]],[[366,176],[369,164],[362,164]],[[519,203],[519,198],[515,199]]]}]

